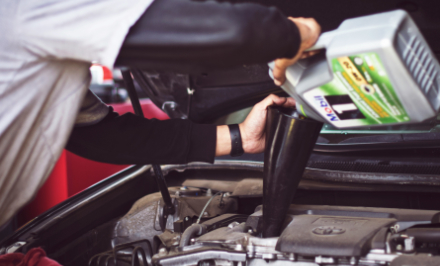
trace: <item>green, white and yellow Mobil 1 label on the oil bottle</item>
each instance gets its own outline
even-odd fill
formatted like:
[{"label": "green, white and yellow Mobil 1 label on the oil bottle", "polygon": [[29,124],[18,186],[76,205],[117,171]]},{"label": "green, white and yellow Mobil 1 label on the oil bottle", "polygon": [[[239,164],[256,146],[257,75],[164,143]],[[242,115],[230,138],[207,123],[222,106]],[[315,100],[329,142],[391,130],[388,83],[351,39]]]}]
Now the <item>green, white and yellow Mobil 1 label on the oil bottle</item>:
[{"label": "green, white and yellow Mobil 1 label on the oil bottle", "polygon": [[306,101],[337,127],[410,121],[377,53],[332,60],[331,82],[304,94]]}]

